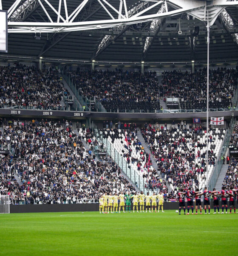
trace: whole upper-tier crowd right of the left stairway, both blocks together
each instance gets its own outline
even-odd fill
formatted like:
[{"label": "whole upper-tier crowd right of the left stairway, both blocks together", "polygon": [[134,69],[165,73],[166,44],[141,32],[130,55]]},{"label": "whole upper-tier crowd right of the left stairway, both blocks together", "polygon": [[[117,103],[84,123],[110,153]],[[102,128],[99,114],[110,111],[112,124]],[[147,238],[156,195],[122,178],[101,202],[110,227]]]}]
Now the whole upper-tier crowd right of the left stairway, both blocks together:
[{"label": "whole upper-tier crowd right of the left stairway, both blocks together", "polygon": [[[195,73],[168,71],[161,83],[156,72],[68,71],[82,95],[99,100],[107,111],[154,112],[161,110],[160,99],[178,98],[181,109],[207,107],[207,70]],[[232,108],[237,89],[237,70],[210,70],[210,108]]]}]

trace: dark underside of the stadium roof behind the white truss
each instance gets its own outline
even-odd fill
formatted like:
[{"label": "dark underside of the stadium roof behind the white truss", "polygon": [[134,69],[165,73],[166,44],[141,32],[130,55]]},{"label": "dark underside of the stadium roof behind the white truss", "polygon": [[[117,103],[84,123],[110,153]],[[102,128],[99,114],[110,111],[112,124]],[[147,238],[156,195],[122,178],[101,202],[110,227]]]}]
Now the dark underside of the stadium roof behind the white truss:
[{"label": "dark underside of the stadium roof behind the white truss", "polygon": [[[182,2],[186,0],[178,0]],[[216,0],[218,1],[218,0]],[[221,0],[224,1],[224,0]],[[75,21],[100,21],[111,16],[118,18],[117,12],[107,6],[110,3],[116,10],[120,8],[120,0],[18,0],[17,8],[8,17],[8,22],[56,22],[58,15],[48,3],[58,11],[61,3],[61,15],[74,12],[80,3],[82,10]],[[47,3],[48,2],[48,3]],[[107,2],[107,3],[106,3]],[[122,1],[121,1],[122,2]],[[127,12],[135,15],[148,9],[146,14],[176,10],[169,4],[150,7],[157,0],[126,0]],[[189,1],[187,1],[189,2]],[[198,0],[197,0],[198,2]],[[207,1],[207,4],[212,4]],[[15,0],[2,0],[3,10],[8,10]],[[124,7],[123,7],[124,8]],[[9,14],[9,12],[8,12]],[[48,14],[48,15],[47,15]],[[122,9],[122,14],[125,10]],[[27,33],[11,31],[8,25],[8,54],[32,58],[60,58],[91,61],[202,61],[207,58],[206,22],[198,20],[194,15],[179,13],[169,17],[158,17],[153,21],[121,25],[113,28],[68,31],[62,33],[40,33],[39,30]],[[196,32],[199,33],[196,35]],[[181,31],[181,34],[178,34]],[[3,56],[4,54],[1,54]],[[229,6],[215,19],[210,29],[210,59],[235,59],[238,57],[238,6]]]}]

